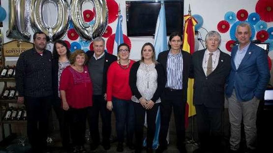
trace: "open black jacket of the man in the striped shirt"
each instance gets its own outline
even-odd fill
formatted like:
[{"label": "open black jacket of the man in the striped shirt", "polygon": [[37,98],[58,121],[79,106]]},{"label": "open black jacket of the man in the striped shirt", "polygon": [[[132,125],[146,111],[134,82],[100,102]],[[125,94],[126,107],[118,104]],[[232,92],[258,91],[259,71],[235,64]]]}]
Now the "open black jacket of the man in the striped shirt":
[{"label": "open black jacket of the man in the striped shirt", "polygon": [[[159,53],[157,61],[162,64],[165,71],[165,76],[167,76],[167,60],[168,60],[168,53],[170,50],[163,51]],[[190,53],[185,51],[181,51],[182,58],[183,58],[183,74],[182,74],[182,96],[183,102],[187,101],[187,89],[188,89],[188,79],[189,79],[189,72],[190,72]],[[167,81],[167,77],[166,77]]]}]

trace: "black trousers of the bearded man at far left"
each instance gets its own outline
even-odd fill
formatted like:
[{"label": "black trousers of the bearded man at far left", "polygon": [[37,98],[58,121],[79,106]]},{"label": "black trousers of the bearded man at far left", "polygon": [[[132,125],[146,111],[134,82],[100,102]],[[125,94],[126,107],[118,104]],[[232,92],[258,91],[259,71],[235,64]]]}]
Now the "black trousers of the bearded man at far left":
[{"label": "black trousers of the bearded man at far left", "polygon": [[51,109],[51,96],[25,96],[27,111],[27,135],[32,152],[41,152],[47,147],[48,117]]}]

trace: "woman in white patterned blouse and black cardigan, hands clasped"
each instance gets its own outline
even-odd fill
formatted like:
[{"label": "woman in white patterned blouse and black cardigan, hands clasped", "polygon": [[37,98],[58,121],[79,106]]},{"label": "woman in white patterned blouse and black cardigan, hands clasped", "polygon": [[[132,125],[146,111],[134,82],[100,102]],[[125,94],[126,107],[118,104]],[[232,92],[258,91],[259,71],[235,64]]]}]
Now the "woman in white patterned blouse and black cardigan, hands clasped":
[{"label": "woman in white patterned blouse and black cardigan, hands clasped", "polygon": [[140,153],[143,142],[143,125],[147,114],[147,153],[153,152],[155,120],[166,79],[163,66],[155,60],[155,50],[151,43],[145,43],[141,49],[141,60],[133,64],[130,70],[130,87],[134,96],[136,153]]}]

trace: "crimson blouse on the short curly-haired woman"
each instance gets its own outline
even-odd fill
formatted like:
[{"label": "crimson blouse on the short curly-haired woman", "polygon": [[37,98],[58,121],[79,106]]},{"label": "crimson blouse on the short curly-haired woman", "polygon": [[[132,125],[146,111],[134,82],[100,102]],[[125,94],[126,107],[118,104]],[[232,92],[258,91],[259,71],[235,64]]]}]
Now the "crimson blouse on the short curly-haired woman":
[{"label": "crimson blouse on the short curly-haired woman", "polygon": [[65,91],[66,101],[71,108],[85,108],[92,106],[92,82],[87,66],[83,72],[67,66],[60,78],[60,90]]}]

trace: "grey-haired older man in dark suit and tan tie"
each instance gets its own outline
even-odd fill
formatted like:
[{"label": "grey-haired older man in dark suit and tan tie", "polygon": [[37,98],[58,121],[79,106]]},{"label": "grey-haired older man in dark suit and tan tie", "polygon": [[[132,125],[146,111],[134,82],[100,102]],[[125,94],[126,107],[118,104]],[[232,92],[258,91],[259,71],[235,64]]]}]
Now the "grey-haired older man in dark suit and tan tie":
[{"label": "grey-haired older man in dark suit and tan tie", "polygon": [[208,32],[205,41],[207,48],[192,55],[191,76],[195,78],[193,102],[201,152],[221,152],[224,89],[230,72],[230,56],[218,48],[221,43],[218,32]]}]

